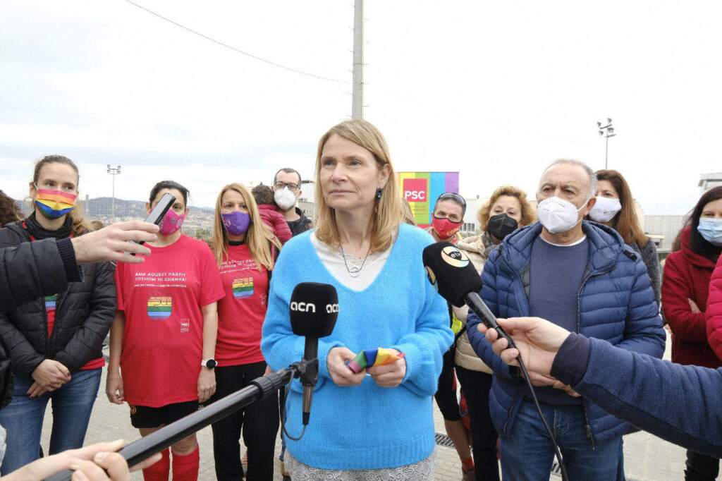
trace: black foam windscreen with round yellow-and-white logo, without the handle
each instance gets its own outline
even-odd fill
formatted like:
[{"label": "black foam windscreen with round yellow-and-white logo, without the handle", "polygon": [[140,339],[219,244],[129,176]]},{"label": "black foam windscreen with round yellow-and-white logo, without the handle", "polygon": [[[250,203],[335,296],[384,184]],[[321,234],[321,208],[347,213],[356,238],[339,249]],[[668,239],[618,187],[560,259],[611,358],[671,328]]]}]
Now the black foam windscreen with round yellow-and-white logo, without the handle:
[{"label": "black foam windscreen with round yellow-and-white logo, without the handle", "polygon": [[429,282],[453,306],[464,306],[464,296],[482,290],[482,278],[469,257],[450,242],[424,249],[424,267]]}]

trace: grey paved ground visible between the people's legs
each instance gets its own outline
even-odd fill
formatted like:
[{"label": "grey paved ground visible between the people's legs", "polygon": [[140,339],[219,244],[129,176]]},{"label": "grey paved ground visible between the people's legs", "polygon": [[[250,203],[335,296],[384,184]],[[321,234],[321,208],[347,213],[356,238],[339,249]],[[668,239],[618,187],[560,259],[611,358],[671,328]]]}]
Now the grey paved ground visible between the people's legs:
[{"label": "grey paved ground visible between the people's legs", "polygon": [[[665,358],[669,359],[669,336]],[[100,384],[90,426],[85,443],[99,441],[112,441],[123,438],[127,442],[139,438],[138,431],[131,427],[127,404],[110,404],[105,397],[105,370],[103,381]],[[45,426],[51,424],[50,409],[45,413]],[[444,433],[443,418],[438,409],[435,409],[434,420],[437,433]],[[204,428],[198,433],[201,446],[201,468],[199,480],[214,480],[213,467],[213,440],[211,428]],[[43,430],[43,449],[47,452],[50,441],[50,430]],[[277,441],[277,454],[281,443]],[[684,479],[685,450],[674,444],[662,441],[648,433],[635,433],[625,436],[625,473],[629,481],[677,481]],[[436,480],[461,480],[461,463],[456,451],[445,446],[436,446],[438,455],[438,469]],[[142,480],[139,472],[134,473],[134,480]],[[560,480],[559,475],[552,473],[551,480]],[[280,472],[274,475],[274,481],[282,481]]]}]

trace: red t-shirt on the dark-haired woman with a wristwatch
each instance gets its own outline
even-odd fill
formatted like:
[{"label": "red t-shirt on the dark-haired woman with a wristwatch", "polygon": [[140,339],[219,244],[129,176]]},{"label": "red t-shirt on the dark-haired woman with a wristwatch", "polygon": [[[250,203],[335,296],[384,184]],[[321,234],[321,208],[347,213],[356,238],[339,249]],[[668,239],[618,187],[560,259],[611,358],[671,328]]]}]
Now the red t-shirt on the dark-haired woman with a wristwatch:
[{"label": "red t-shirt on the dark-haired woman with a wristwatch", "polygon": [[121,374],[128,404],[161,407],[198,399],[201,306],[225,293],[203,241],[181,235],[150,248],[142,264],[118,262],[118,310],[125,311]]}]

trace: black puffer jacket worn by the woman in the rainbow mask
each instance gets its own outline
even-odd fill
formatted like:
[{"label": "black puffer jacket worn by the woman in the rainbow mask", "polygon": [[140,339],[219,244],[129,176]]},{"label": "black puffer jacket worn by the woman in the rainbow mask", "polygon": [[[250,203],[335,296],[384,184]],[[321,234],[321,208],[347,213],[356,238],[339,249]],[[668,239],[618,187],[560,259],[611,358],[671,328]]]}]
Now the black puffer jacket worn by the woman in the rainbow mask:
[{"label": "black puffer jacket worn by the woman in the rainbow mask", "polygon": [[[30,235],[21,222],[0,229],[0,248],[29,242]],[[43,241],[38,241],[43,242]],[[56,276],[39,266],[25,269],[7,269],[6,276],[16,280],[27,276]],[[55,269],[53,269],[55,268]],[[116,284],[113,279],[115,267],[103,262],[85,264],[82,282],[71,282],[61,291],[56,302],[56,320],[48,339],[48,317],[45,300],[37,298],[12,311],[0,314],[0,337],[10,350],[12,371],[19,376],[30,376],[45,359],[54,359],[74,372],[90,360],[102,357],[103,339],[108,334],[116,312]],[[38,279],[42,282],[42,279]]]}]

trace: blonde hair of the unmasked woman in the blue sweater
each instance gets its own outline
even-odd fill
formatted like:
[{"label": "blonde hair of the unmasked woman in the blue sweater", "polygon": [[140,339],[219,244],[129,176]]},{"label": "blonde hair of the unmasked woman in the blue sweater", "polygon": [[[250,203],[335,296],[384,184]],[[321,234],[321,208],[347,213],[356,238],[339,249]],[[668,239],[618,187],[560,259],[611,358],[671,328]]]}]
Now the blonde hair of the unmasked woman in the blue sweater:
[{"label": "blonde hair of the unmasked woman in the blue sweater", "polygon": [[[372,123],[362,119],[354,119],[337,123],[323,134],[318,141],[316,152],[316,186],[321,186],[321,155],[326,141],[334,135],[340,135],[357,145],[367,149],[376,160],[376,167],[381,169],[388,165],[388,182],[384,186],[380,199],[376,199],[376,212],[371,217],[371,250],[386,251],[391,247],[393,235],[401,223],[401,193],[396,183],[396,173],[391,165],[386,139]],[[336,212],[326,204],[323,188],[316,188],[316,237],[329,246],[340,246],[339,227],[336,225]]]}]

